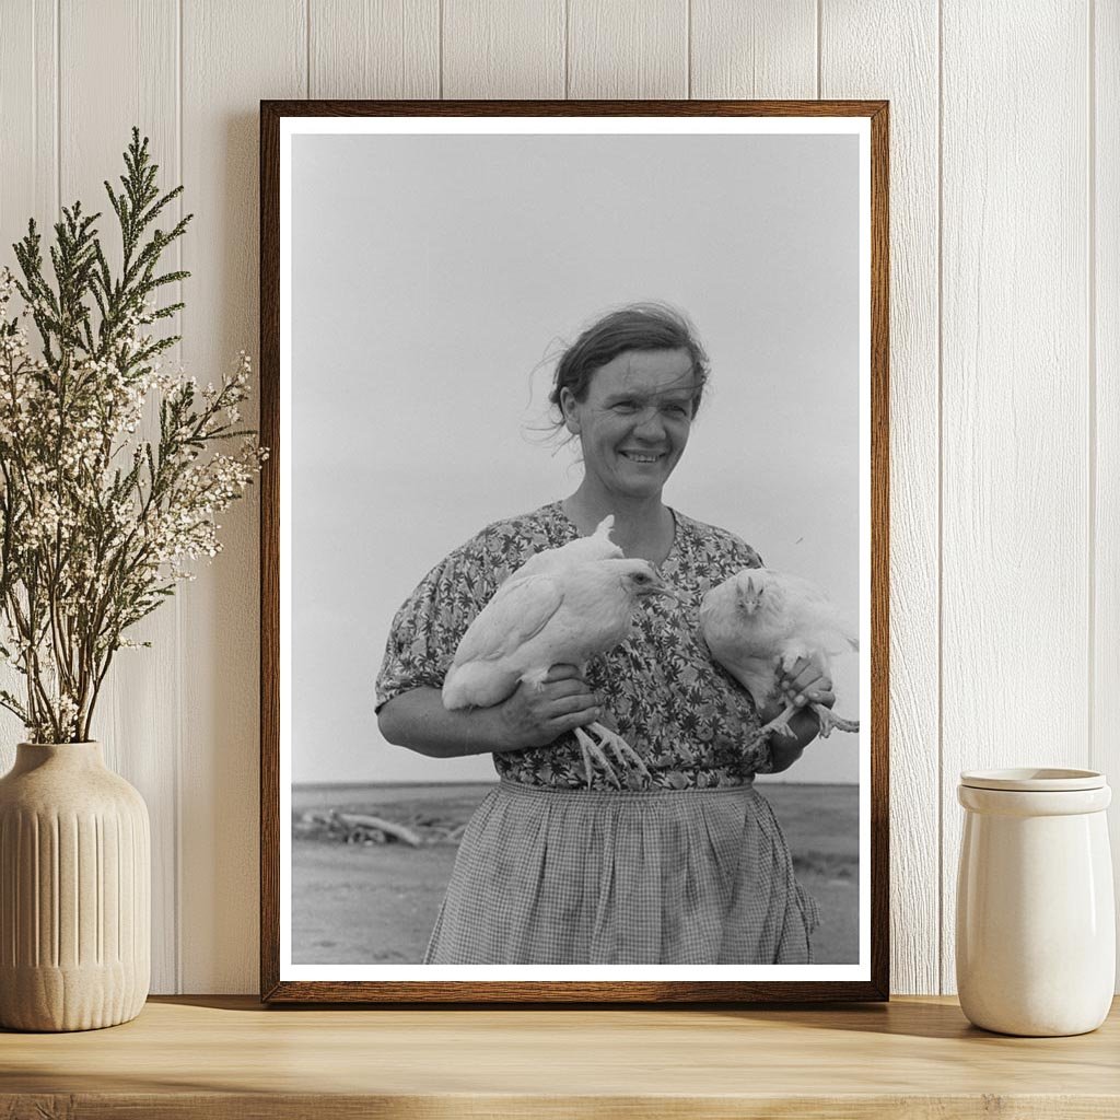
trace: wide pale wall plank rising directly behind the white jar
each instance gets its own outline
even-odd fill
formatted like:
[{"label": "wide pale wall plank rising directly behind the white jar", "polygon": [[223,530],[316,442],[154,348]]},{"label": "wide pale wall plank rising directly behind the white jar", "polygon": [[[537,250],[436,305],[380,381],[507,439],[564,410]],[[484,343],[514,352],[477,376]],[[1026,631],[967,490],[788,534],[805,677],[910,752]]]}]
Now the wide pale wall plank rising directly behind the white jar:
[{"label": "wide pale wall plank rising directly behind the white jar", "polygon": [[945,0],[942,984],[962,769],[1084,765],[1086,8]]}]

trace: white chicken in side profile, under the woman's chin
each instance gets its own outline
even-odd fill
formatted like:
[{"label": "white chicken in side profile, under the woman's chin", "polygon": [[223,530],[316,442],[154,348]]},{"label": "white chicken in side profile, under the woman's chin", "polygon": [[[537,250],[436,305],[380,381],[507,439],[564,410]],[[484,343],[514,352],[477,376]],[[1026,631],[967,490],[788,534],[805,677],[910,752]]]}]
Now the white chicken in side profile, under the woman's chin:
[{"label": "white chicken in side profile, under the woman's chin", "polygon": [[[521,681],[542,688],[557,664],[576,665],[582,675],[592,656],[625,641],[641,598],[675,596],[648,561],[623,558],[610,543],[612,521],[600,522],[591,536],[538,552],[502,584],[459,642],[444,680],[446,708],[489,708]],[[622,784],[604,749],[648,778],[629,744],[603,724],[576,728],[575,735],[588,786],[594,763]]]}]

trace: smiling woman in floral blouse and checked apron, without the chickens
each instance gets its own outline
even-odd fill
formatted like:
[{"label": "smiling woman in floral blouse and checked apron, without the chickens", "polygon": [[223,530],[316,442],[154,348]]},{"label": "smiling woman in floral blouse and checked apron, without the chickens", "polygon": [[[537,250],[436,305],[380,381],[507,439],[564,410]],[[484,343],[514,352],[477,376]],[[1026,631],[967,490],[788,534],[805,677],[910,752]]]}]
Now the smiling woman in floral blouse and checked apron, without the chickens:
[{"label": "smiling woman in floral blouse and checked apron, without the chickens", "polygon": [[[660,305],[614,311],[563,354],[551,401],[579,440],[584,478],[561,502],[487,526],[437,566],[393,622],[377,679],[384,737],[421,754],[493,753],[502,777],[472,818],[427,962],[436,964],[768,964],[811,960],[815,904],[753,786],[816,734],[758,741],[749,696],[710,657],[703,594],[758,554],[662,501],[703,396],[708,360]],[[650,560],[679,600],[657,598],[586,679],[553,666],[493,708],[448,711],[444,674],[467,626],[534,552],[594,532]],[[795,665],[783,693],[831,706],[832,684]],[[599,710],[604,713],[599,716]],[[590,790],[572,729],[613,719],[651,778],[603,774]]]}]

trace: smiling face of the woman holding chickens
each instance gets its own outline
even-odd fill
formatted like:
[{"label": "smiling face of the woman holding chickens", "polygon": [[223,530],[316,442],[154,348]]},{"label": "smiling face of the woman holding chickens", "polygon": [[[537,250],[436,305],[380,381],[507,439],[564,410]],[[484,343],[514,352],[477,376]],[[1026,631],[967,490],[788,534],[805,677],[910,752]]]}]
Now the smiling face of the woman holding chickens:
[{"label": "smiling face of the woman holding chickens", "polygon": [[585,400],[562,390],[588,479],[619,496],[660,495],[689,441],[694,393],[684,349],[626,351],[595,371]]}]

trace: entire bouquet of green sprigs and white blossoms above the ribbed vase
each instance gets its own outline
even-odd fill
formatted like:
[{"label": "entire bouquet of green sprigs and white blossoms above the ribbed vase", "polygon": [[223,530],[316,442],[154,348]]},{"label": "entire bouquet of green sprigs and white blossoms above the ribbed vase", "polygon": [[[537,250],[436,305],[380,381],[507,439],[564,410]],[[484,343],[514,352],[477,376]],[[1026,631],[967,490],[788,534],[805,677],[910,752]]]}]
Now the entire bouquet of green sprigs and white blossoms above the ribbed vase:
[{"label": "entire bouquet of green sprigs and white blossoms above the ribbed vase", "polygon": [[[183,304],[158,307],[158,290],[189,273],[159,273],[159,261],[192,215],[153,226],[183,187],[160,194],[138,129],[124,167],[119,193],[105,183],[119,270],[99,239],[101,215],[81,203],[54,226],[52,278],[34,221],[13,246],[22,278],[0,270],[0,657],[24,679],[21,696],[0,690],[0,706],[32,743],[90,738],[113,654],[137,645],[125,631],[194,578],[187,561],[221,550],[215,516],[267,456],[239,427],[244,353],[216,386],[161,368],[179,336],[149,328]],[[151,398],[158,441],[138,435]],[[236,439],[232,454],[214,448]]]}]

